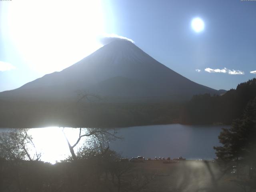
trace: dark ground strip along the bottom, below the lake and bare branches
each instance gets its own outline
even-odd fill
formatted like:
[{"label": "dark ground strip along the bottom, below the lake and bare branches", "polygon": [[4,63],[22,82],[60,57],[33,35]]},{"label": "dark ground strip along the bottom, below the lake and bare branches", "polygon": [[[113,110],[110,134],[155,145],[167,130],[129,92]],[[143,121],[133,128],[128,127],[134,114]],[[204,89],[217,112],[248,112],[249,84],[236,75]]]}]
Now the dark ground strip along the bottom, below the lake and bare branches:
[{"label": "dark ground strip along the bottom, below the lake and bare branches", "polygon": [[[108,156],[109,158],[109,156]],[[243,192],[217,163],[183,161],[163,164],[108,161],[96,156],[54,165],[1,162],[1,192]]]}]

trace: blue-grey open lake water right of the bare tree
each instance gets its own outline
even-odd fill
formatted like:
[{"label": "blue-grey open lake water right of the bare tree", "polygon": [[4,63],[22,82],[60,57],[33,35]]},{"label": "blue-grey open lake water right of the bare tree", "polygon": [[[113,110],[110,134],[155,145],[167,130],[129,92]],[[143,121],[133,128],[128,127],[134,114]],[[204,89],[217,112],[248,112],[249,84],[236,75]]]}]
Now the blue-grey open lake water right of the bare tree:
[{"label": "blue-grey open lake water right of the bare tree", "polygon": [[118,133],[124,140],[116,140],[110,146],[127,157],[214,159],[213,146],[220,146],[218,135],[223,127],[227,126],[169,124],[121,128]]}]

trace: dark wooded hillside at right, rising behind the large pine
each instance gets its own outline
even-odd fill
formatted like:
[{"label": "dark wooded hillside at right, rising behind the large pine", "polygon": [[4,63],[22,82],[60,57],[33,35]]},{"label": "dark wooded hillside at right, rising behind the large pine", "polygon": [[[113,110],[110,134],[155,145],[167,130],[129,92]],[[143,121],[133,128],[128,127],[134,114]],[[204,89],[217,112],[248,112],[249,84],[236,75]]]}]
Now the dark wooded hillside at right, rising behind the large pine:
[{"label": "dark wooded hillside at right, rising behind the large pine", "polygon": [[240,118],[250,100],[256,97],[256,78],[238,84],[222,96],[195,95],[182,105],[180,122],[183,124],[228,124]]}]

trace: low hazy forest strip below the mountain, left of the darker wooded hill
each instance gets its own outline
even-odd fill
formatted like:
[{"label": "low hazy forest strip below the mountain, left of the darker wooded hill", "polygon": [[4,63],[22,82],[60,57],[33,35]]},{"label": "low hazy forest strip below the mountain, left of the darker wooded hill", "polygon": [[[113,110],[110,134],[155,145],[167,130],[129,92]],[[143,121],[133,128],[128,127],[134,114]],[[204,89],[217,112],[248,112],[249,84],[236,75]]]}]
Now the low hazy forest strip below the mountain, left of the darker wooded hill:
[{"label": "low hazy forest strip below the mountain, left of the darker wooded hill", "polygon": [[47,126],[111,128],[172,124],[179,120],[180,103],[104,103],[0,101],[0,127]]}]

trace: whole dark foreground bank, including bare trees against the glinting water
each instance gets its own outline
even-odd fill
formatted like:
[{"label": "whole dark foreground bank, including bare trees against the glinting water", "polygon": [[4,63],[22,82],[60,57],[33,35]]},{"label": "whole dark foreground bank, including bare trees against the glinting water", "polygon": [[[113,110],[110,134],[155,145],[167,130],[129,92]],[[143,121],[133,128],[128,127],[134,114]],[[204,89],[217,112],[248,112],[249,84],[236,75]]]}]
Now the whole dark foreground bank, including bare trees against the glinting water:
[{"label": "whole dark foreground bank, including bare trees against the glinting water", "polygon": [[[244,191],[232,182],[237,178],[237,174],[231,174],[232,170],[221,162],[129,162],[120,159],[116,152],[109,149],[108,141],[115,138],[113,132],[100,129],[88,132],[80,130],[77,141],[80,142],[82,137],[92,136],[94,145],[91,148],[82,146],[73,154],[74,145],[69,144],[70,157],[54,165],[40,161],[40,152],[36,152],[36,148],[32,148],[34,151],[29,148],[34,145],[26,129],[3,132],[0,135],[0,191]],[[253,189],[245,184],[246,188]]]}]

